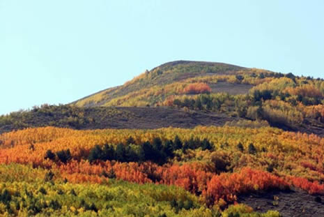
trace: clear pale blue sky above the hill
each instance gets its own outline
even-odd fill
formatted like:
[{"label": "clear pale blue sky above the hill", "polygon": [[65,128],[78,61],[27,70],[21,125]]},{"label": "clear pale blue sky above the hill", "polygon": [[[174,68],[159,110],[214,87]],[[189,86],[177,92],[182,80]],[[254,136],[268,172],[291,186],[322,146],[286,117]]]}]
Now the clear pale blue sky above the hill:
[{"label": "clear pale blue sky above the hill", "polygon": [[175,60],[324,77],[324,1],[0,0],[0,114]]}]

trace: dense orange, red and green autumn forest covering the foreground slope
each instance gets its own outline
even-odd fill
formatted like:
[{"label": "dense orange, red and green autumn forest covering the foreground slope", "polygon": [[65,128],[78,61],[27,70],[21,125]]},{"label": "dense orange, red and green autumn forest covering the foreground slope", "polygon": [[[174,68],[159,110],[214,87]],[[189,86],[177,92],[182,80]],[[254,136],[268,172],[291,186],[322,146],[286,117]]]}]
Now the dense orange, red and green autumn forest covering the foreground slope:
[{"label": "dense orange, red and green autumn forest covering the foreground slope", "polygon": [[0,141],[3,216],[279,216],[238,197],[324,194],[324,139],[271,127],[45,127]]}]

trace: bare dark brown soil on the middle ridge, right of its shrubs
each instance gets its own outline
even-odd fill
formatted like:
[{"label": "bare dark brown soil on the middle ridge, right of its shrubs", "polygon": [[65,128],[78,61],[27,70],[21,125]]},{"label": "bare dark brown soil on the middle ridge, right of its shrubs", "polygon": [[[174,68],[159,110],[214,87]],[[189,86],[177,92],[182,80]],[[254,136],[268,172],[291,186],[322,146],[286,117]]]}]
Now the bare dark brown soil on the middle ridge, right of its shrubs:
[{"label": "bare dark brown soil on the middle ridge, right of its shrubs", "polygon": [[[224,114],[205,114],[202,112],[185,112],[167,107],[116,107],[116,110],[126,112],[128,117],[100,119],[97,124],[88,128],[194,128],[195,126],[224,126],[227,121],[239,118],[228,117]],[[91,110],[89,108],[89,110]]]}]

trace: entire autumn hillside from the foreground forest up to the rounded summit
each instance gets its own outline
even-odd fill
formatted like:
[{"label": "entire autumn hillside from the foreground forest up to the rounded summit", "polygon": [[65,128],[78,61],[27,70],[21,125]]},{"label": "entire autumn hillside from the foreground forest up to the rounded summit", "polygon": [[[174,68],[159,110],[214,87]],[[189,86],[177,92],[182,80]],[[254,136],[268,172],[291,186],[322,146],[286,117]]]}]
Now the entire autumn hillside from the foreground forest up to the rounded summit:
[{"label": "entire autumn hillside from the foreground forest up to the rounded summit", "polygon": [[324,80],[174,61],[0,116],[0,216],[324,215]]}]

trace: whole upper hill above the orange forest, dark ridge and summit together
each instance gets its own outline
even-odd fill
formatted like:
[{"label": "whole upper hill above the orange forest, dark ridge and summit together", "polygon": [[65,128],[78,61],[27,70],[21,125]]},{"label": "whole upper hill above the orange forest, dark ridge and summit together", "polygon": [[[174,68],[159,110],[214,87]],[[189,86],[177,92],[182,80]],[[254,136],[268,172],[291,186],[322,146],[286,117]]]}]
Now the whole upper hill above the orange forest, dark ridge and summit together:
[{"label": "whole upper hill above the orange forest, dark ridge and summit together", "polygon": [[324,135],[323,103],[321,79],[225,63],[174,61],[77,100],[72,107],[45,106],[2,116],[0,130],[194,127],[215,124],[206,117],[224,117],[217,126],[230,119],[267,121],[284,130]]}]

